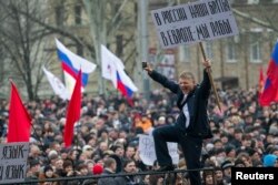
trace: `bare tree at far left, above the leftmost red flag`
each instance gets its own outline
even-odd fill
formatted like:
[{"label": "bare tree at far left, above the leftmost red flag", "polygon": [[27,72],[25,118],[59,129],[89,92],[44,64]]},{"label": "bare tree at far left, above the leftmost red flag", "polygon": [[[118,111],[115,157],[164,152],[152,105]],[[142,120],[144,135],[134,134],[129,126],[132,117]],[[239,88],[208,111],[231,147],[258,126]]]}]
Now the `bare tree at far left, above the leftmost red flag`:
[{"label": "bare tree at far left, above the leftmost red flag", "polygon": [[[36,17],[41,11],[41,4],[36,0],[1,1],[1,47],[7,54],[6,73],[18,83],[23,83],[29,100],[38,97],[42,79],[41,66],[48,61],[43,52],[44,37],[50,31],[34,24],[29,17],[20,13],[23,10]],[[39,18],[38,18],[39,19]],[[43,22],[44,19],[40,18]]]}]

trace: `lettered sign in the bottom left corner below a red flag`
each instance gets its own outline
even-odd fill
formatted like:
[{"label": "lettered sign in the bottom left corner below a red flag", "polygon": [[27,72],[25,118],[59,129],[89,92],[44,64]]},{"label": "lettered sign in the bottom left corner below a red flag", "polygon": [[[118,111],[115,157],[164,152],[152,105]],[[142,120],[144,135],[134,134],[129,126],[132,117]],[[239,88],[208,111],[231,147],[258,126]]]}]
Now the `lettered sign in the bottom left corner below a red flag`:
[{"label": "lettered sign in the bottom left corner below a red flag", "polygon": [[29,143],[0,145],[0,184],[24,182]]}]

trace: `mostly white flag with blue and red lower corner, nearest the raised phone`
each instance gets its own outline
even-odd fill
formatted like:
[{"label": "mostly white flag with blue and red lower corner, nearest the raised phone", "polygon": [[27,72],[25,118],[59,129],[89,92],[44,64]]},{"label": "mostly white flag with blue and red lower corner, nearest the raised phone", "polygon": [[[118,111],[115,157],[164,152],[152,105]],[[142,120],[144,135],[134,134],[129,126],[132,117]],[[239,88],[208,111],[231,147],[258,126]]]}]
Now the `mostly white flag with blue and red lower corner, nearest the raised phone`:
[{"label": "mostly white flag with blue and red lower corner, nearest the raised phone", "polygon": [[125,65],[121,60],[105,45],[101,45],[101,71],[102,76],[111,80],[113,86],[128,99],[130,104],[132,104],[131,96],[138,89],[125,72]]}]

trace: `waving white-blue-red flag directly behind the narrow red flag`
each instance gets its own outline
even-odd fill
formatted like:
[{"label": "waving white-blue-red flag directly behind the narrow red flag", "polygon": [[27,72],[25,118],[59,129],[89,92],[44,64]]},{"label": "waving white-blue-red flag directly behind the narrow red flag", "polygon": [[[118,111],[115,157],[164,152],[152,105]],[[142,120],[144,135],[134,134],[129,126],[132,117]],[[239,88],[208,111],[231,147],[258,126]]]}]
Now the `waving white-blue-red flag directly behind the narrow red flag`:
[{"label": "waving white-blue-red flag directly behind the narrow red flag", "polygon": [[96,69],[96,64],[88,60],[72,53],[68,50],[58,39],[56,39],[58,58],[61,61],[66,88],[69,94],[72,94],[78,71],[82,71],[82,88],[88,84],[89,73],[92,73]]}]

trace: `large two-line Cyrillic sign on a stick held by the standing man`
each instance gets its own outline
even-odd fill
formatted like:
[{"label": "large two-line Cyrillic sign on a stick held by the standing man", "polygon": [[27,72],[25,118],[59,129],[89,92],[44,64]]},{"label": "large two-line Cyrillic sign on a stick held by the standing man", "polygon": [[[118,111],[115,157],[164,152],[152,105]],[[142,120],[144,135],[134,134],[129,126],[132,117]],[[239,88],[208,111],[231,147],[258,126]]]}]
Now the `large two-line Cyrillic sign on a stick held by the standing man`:
[{"label": "large two-line Cyrillic sign on a stick held by the standing man", "polygon": [[151,11],[162,48],[238,34],[229,0],[206,0]]}]

